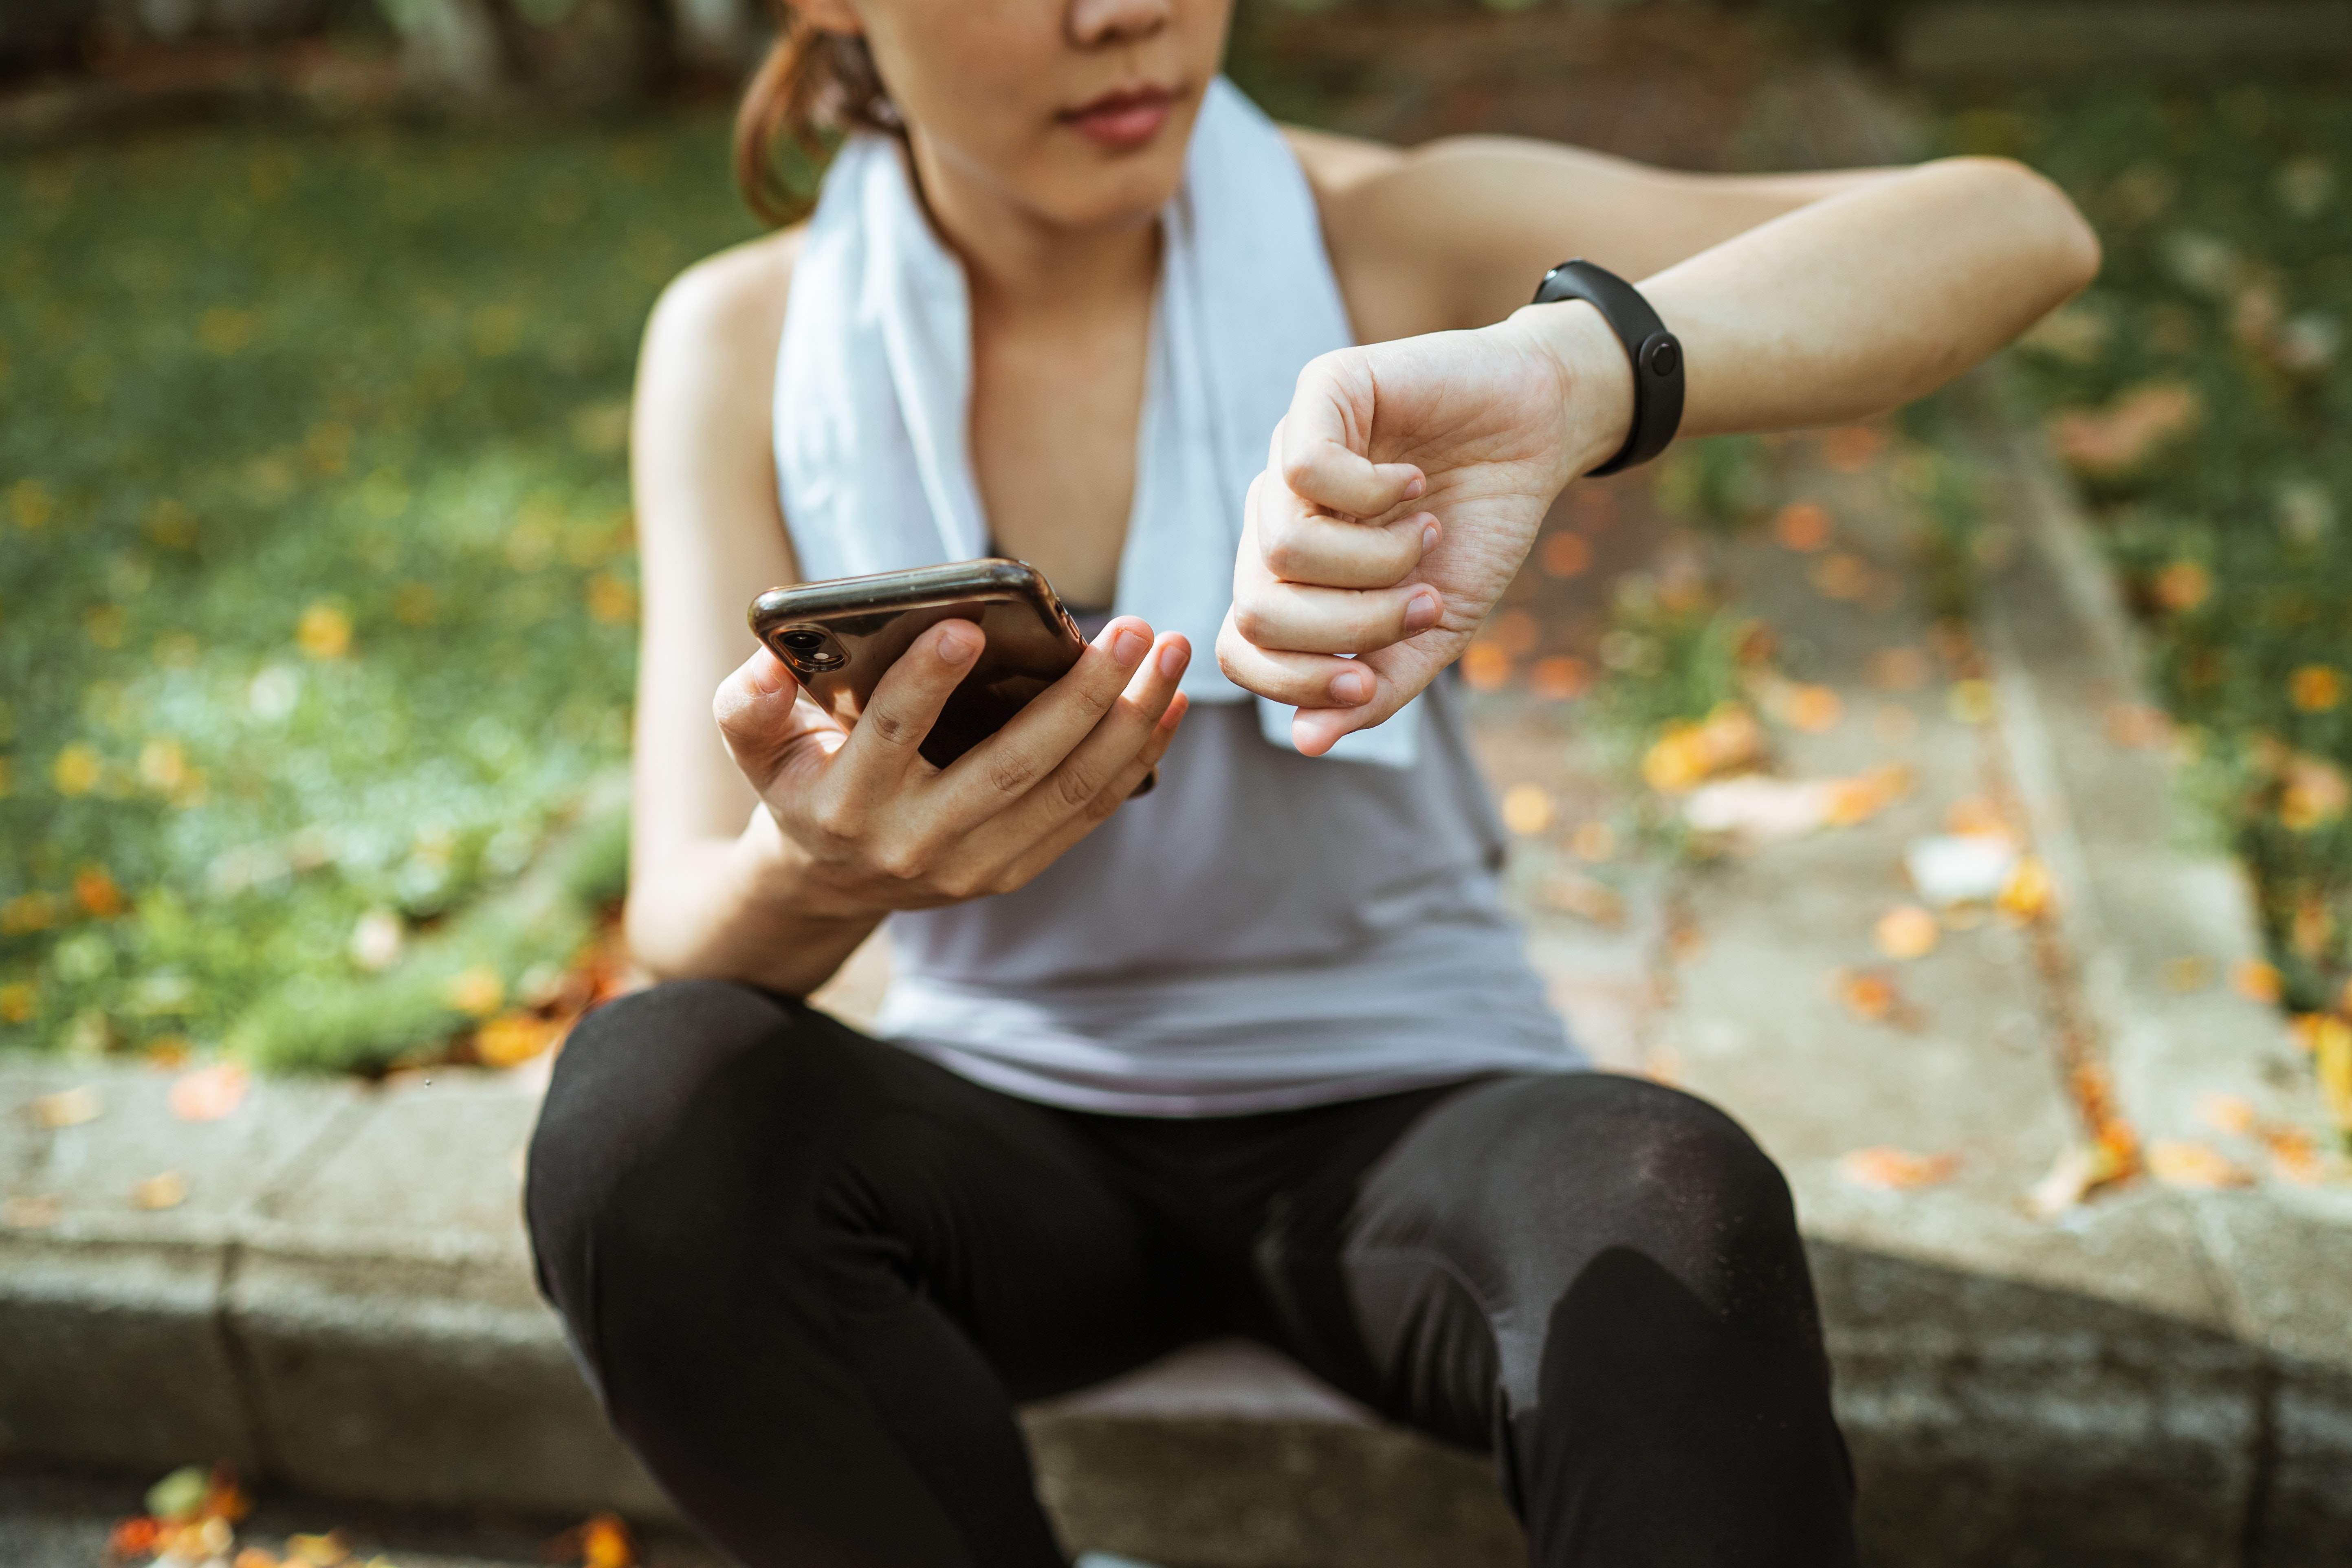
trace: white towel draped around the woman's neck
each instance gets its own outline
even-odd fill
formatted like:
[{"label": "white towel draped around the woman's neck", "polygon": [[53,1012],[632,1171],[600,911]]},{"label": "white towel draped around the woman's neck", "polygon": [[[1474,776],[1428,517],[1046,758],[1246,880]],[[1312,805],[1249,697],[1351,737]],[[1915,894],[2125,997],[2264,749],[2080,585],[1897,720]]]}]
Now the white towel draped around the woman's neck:
[{"label": "white towel draped around the woman's neck", "polygon": [[[1195,703],[1249,693],[1216,665],[1249,482],[1298,371],[1355,341],[1315,193],[1282,132],[1218,78],[1160,216],[1160,292],[1136,496],[1112,609],[1192,639]],[[776,355],[776,475],[809,581],[990,555],[971,480],[971,296],[894,136],[854,134],[826,174]],[[1291,745],[1296,710],[1258,698]],[[1421,708],[1329,755],[1411,766]]]}]

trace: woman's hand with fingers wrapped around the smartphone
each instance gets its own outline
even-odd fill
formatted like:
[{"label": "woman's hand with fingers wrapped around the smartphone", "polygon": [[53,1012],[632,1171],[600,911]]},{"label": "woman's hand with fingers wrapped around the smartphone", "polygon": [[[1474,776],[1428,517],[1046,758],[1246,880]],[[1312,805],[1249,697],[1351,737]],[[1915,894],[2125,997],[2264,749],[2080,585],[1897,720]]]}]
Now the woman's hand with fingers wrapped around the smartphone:
[{"label": "woman's hand with fingers wrapped around the smartphone", "polygon": [[929,628],[854,729],[764,646],[720,684],[720,736],[764,802],[746,846],[802,914],[873,919],[1009,893],[1117,811],[1183,719],[1190,644],[1120,616],[1011,724],[931,766],[922,738],[981,646],[969,621]]}]

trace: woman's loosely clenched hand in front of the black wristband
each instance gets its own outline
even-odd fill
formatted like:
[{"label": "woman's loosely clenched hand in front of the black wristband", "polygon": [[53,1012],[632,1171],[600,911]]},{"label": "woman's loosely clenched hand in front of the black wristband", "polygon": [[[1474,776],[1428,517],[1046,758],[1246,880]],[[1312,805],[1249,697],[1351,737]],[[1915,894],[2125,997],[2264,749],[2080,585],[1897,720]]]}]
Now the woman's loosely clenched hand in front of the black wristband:
[{"label": "woman's loosely clenched hand in front of the black wristband", "polygon": [[1388,719],[1470,644],[1630,407],[1590,306],[1322,355],[1249,489],[1218,665],[1296,705],[1310,757]]}]

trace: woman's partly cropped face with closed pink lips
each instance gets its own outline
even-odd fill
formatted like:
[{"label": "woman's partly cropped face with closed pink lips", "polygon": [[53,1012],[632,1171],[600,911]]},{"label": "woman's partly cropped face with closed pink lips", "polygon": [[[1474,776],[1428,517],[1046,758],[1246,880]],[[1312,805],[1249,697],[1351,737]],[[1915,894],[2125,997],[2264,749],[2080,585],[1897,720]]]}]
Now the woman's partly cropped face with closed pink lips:
[{"label": "woman's partly cropped face with closed pink lips", "polygon": [[[1176,193],[1232,0],[809,0],[866,33],[934,181],[1056,228],[1148,221]],[[948,193],[934,193],[934,200]]]}]

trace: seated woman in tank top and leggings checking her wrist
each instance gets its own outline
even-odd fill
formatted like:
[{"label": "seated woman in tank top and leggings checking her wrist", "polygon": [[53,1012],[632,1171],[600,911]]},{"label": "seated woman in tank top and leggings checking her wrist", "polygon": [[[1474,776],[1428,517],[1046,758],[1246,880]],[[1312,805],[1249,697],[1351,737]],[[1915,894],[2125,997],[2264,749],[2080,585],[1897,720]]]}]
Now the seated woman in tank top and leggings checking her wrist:
[{"label": "seated woman in tank top and leggings checking her wrist", "polygon": [[[1014,1403],[1221,1333],[1491,1450],[1545,1568],[1846,1563],[1788,1190],[1578,1072],[1435,677],[1668,381],[1686,435],[1872,414],[2096,244],[2004,162],[1284,136],[1216,80],[1228,5],[793,0],[755,197],[779,136],[851,136],[647,331],[628,933],[666,983],[557,1065],[541,1281],[753,1566],[1061,1566]],[[1564,254],[1679,362],[1621,341],[1639,301],[1522,306]],[[847,733],[746,658],[762,588],[993,552],[1117,614],[946,771],[969,623]],[[802,1001],[884,919],[889,1044]]]}]

